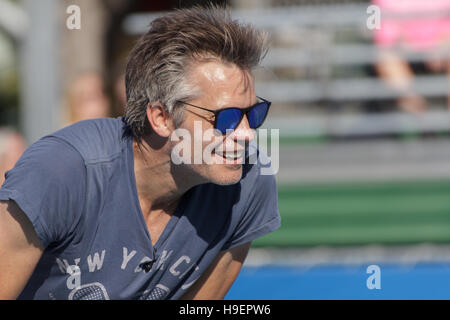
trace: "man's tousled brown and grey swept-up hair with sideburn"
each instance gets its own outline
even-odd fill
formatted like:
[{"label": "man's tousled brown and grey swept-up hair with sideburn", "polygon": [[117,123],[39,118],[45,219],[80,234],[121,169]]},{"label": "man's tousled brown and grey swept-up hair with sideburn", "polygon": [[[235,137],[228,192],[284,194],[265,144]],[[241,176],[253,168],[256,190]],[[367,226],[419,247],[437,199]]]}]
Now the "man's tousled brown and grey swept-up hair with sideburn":
[{"label": "man's tousled brown and grey swept-up hair with sideburn", "polygon": [[190,67],[216,59],[252,71],[267,52],[266,33],[232,20],[228,9],[209,5],[178,9],[153,20],[131,51],[125,74],[125,121],[139,142],[150,131],[146,108],[159,101],[178,126],[177,101],[199,93],[188,83]]}]

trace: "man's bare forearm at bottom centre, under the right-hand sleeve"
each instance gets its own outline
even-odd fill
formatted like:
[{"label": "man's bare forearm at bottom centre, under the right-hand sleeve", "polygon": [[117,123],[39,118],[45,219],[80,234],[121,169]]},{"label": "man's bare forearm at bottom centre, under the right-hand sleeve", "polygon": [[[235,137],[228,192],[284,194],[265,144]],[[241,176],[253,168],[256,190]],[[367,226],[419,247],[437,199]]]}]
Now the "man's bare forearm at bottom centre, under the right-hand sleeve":
[{"label": "man's bare forearm at bottom centre, under the right-hand sleeve", "polygon": [[251,242],[222,251],[205,273],[181,299],[219,300],[223,299],[236,280],[247,257]]}]

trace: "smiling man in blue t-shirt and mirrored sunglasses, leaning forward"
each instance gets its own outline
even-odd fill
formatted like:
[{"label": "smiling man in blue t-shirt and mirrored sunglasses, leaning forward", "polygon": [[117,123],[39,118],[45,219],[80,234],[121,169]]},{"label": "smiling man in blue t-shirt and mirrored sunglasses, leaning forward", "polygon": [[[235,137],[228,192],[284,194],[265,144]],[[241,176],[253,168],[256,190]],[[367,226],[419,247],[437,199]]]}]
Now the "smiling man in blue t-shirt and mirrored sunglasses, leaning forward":
[{"label": "smiling man in blue t-shirt and mirrored sunglasses, leaning forward", "polygon": [[[6,174],[0,298],[222,299],[280,224],[267,159],[241,163],[270,106],[251,76],[264,52],[219,8],[153,21],[129,57],[125,118],[44,137]],[[189,154],[173,152],[176,130],[211,146],[198,124],[216,129],[214,161],[175,164]]]}]

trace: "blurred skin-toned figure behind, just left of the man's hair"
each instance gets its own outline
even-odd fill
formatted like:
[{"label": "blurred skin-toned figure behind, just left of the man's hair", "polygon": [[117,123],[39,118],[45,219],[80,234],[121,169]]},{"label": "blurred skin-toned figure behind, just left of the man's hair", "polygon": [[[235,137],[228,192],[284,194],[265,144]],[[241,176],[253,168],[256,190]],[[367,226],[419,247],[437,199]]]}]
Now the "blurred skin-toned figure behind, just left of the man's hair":
[{"label": "blurred skin-toned figure behind, just left of the man's hair", "polygon": [[81,74],[68,91],[69,123],[110,116],[110,103],[100,74]]}]

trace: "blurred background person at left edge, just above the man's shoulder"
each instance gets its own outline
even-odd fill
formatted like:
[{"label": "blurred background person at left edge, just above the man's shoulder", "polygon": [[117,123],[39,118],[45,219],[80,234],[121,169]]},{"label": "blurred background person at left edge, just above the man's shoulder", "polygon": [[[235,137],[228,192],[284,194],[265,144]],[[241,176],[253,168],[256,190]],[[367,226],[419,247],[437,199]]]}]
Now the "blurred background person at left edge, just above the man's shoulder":
[{"label": "blurred background person at left edge, just above the man's shoulder", "polygon": [[25,141],[19,133],[0,128],[0,186],[5,180],[6,171],[14,167],[25,148]]}]

